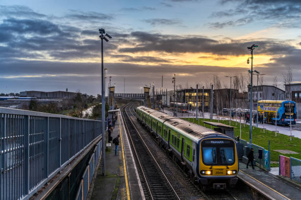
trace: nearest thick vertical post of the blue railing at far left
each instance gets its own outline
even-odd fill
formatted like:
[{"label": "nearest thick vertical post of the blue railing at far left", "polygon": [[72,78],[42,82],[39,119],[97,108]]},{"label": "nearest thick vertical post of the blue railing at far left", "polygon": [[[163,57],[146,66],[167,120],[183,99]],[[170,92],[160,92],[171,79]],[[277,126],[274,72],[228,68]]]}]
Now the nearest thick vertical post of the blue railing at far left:
[{"label": "nearest thick vertical post of the blue railing at far left", "polygon": [[[6,120],[6,118],[4,118]],[[29,149],[29,135],[30,135],[30,116],[24,116],[24,195],[29,194],[30,190],[30,149]]]}]

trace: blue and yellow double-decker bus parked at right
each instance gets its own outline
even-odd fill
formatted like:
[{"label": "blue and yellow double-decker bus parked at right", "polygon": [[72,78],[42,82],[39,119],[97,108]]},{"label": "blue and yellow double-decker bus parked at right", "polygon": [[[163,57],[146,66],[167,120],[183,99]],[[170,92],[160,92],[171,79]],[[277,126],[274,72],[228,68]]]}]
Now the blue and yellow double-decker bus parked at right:
[{"label": "blue and yellow double-decker bus parked at right", "polygon": [[[264,115],[265,123],[277,125],[296,125],[296,102],[292,100],[259,100],[258,119]],[[290,118],[291,115],[291,118]],[[258,120],[258,121],[259,121]]]}]

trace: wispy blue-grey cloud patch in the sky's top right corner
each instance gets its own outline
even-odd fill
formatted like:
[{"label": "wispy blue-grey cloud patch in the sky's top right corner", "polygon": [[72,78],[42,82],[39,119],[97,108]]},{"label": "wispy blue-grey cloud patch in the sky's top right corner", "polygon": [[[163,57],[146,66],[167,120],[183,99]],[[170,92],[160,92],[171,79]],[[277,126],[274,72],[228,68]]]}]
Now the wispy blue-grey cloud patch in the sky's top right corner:
[{"label": "wispy blue-grey cloud patch in the sky's top right corner", "polygon": [[[300,0],[221,0],[221,3],[227,2],[235,2],[236,5],[232,3],[232,7],[235,8],[213,12],[211,17],[231,19],[225,22],[212,22],[209,24],[211,27],[224,28],[252,22],[265,22],[266,25],[283,28],[301,26]],[[236,20],[236,17],[239,17],[239,20]]]}]

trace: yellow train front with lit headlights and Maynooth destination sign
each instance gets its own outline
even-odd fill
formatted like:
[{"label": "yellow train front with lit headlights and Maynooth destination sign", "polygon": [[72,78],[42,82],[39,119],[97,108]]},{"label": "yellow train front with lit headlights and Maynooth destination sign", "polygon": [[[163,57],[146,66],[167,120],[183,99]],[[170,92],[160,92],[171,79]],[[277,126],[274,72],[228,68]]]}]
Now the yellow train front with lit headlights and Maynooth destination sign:
[{"label": "yellow train front with lit headlights and Maynooth destination sign", "polygon": [[235,187],[239,171],[235,141],[227,137],[204,138],[198,146],[198,176],[202,190]]}]

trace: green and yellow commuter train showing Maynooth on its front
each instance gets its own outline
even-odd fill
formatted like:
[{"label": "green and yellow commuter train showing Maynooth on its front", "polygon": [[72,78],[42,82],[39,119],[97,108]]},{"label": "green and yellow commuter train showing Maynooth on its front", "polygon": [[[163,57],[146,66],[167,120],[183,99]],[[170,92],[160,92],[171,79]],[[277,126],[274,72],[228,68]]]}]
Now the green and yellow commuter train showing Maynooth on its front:
[{"label": "green and yellow commuter train showing Maynooth on its front", "polygon": [[234,139],[144,106],[136,108],[136,117],[202,190],[235,187],[239,163]]}]

